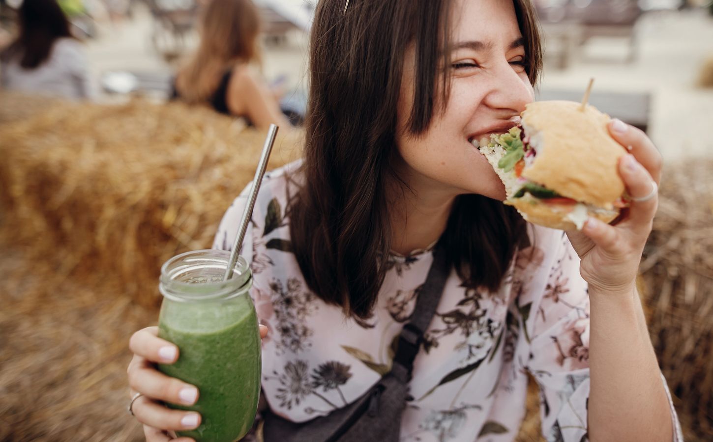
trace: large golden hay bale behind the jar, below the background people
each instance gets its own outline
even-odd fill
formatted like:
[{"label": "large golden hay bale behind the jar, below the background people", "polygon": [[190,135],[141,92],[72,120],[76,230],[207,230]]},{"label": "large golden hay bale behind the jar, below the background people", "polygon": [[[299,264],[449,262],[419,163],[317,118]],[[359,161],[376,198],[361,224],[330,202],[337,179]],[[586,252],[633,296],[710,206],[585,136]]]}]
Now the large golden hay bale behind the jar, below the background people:
[{"label": "large golden hay bale behind the jar, below the background people", "polygon": [[[180,103],[63,103],[0,126],[7,241],[63,250],[60,273],[118,275],[156,305],[160,265],[210,247],[222,213],[252,179],[265,134]],[[299,156],[280,137],[270,166]]]}]

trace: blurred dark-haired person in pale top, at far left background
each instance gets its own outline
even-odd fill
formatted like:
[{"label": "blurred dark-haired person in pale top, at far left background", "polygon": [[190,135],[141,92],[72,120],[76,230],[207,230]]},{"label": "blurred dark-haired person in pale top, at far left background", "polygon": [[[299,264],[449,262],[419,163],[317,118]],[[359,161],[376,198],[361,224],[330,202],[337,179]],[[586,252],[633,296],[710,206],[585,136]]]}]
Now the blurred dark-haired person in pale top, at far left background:
[{"label": "blurred dark-haired person in pale top, at far left background", "polygon": [[90,98],[86,56],[56,0],[24,0],[19,36],[0,54],[2,88]]}]

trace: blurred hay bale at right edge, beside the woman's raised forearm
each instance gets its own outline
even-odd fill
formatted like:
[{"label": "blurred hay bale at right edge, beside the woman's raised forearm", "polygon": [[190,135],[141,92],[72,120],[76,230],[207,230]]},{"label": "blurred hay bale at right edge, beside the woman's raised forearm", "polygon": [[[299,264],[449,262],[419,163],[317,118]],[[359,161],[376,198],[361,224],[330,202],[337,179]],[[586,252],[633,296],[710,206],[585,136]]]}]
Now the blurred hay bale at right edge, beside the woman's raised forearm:
[{"label": "blurred hay bale at right edge, beside the woman's raised forearm", "polygon": [[687,440],[713,440],[713,159],[665,169],[642,273],[649,330]]}]

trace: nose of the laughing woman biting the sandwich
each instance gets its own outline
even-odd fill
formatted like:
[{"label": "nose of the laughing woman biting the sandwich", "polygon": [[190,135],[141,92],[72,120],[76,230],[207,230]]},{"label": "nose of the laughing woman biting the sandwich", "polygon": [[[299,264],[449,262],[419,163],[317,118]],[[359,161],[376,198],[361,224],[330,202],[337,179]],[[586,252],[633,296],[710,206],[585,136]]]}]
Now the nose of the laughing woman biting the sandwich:
[{"label": "nose of the laughing woman biting the sandwich", "polygon": [[525,105],[535,99],[533,86],[526,73],[518,73],[507,62],[501,63],[491,75],[491,87],[485,103],[494,110],[519,115]]}]

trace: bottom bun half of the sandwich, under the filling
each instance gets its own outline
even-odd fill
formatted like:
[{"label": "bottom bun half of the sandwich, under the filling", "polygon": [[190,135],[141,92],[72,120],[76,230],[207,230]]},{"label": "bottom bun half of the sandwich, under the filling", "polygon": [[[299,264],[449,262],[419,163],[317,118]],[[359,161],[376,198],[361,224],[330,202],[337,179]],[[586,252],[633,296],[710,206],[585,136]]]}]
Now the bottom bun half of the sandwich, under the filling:
[{"label": "bottom bun half of the sandwich, under the filling", "polygon": [[[561,230],[578,230],[574,221],[567,218],[570,213],[568,210],[554,204],[540,203],[529,194],[523,196],[523,198],[508,199],[506,204],[518,209],[525,221],[530,223],[550,228],[560,228]],[[619,215],[619,211],[618,209],[612,211],[589,210],[587,215],[605,223],[610,223]]]}]

